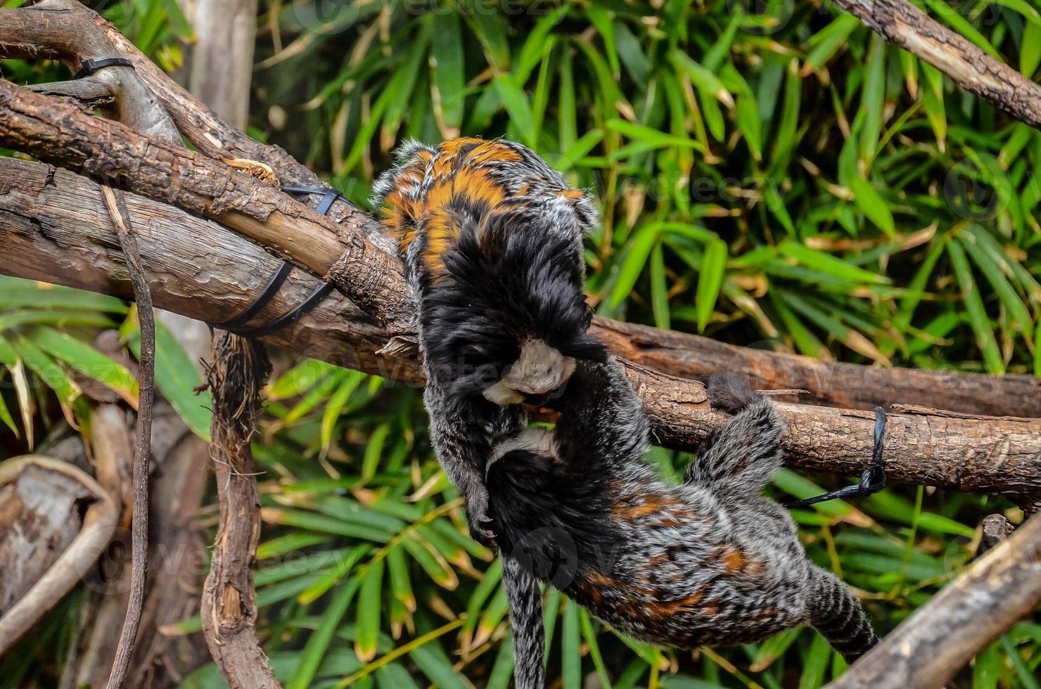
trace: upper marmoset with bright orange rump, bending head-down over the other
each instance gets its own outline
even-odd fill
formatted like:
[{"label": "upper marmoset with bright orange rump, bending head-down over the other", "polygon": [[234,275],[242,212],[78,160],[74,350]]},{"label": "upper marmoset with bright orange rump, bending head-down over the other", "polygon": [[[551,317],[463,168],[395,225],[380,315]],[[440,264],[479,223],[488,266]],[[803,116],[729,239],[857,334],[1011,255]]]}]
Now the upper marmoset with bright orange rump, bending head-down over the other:
[{"label": "upper marmoset with bright orange rump, bending head-down over the other", "polygon": [[492,443],[524,428],[523,403],[559,389],[577,359],[605,356],[582,290],[596,214],[518,144],[412,142],[398,155],[374,192],[416,303],[431,437],[471,534],[491,544]]}]

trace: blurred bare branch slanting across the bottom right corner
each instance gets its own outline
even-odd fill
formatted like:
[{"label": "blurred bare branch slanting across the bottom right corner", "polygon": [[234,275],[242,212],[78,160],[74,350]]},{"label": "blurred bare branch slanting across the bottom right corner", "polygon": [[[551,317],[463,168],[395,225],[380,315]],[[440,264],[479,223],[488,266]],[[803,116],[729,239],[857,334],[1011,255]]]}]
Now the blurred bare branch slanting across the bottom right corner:
[{"label": "blurred bare branch slanting across the bottom right corner", "polygon": [[1041,604],[1041,514],[976,560],[832,689],[936,689]]}]

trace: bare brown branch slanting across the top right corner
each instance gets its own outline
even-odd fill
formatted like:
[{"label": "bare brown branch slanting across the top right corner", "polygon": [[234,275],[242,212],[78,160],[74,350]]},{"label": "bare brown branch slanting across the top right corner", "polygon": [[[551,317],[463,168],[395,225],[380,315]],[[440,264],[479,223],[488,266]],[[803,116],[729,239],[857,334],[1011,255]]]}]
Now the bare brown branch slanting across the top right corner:
[{"label": "bare brown branch slanting across the top right corner", "polygon": [[887,41],[946,74],[962,88],[1041,128],[1041,84],[994,59],[907,0],[834,2]]}]

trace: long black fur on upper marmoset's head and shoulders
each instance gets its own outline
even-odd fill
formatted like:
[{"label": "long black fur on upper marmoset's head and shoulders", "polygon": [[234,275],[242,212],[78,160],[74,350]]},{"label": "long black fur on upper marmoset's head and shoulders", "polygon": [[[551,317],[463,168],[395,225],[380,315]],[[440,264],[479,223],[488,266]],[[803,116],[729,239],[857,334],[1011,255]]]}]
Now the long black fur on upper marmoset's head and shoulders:
[{"label": "long black fur on upper marmoset's head and shoulders", "polygon": [[453,209],[460,229],[442,255],[446,275],[422,290],[429,363],[467,393],[499,380],[529,338],[603,361],[603,343],[587,332],[592,311],[574,235],[523,206],[483,218],[467,210]]}]

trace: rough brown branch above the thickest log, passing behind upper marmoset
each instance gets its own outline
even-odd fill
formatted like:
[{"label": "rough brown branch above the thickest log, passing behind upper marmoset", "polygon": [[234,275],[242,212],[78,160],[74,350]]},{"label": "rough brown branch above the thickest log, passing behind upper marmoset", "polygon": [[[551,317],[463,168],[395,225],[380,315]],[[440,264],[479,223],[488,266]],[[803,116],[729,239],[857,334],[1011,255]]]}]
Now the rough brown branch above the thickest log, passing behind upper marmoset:
[{"label": "rough brown branch above the thickest log, passing behind upper marmoset", "polygon": [[[335,265],[335,282],[348,297],[389,325],[391,334],[411,333],[411,304],[400,263],[358,232],[349,235],[340,226],[337,231],[327,219],[274,187],[220,162],[164,147],[45,96],[24,91],[19,96],[19,91],[0,82],[0,109],[11,110],[0,118],[0,141],[6,145],[217,220],[318,275],[329,274]],[[49,138],[41,141],[44,136]],[[864,408],[897,402],[967,413],[1041,416],[1038,378],[827,364],[610,321],[599,320],[598,325],[598,333],[619,355],[676,375],[735,371],[760,387],[809,389],[823,401]]]}]

